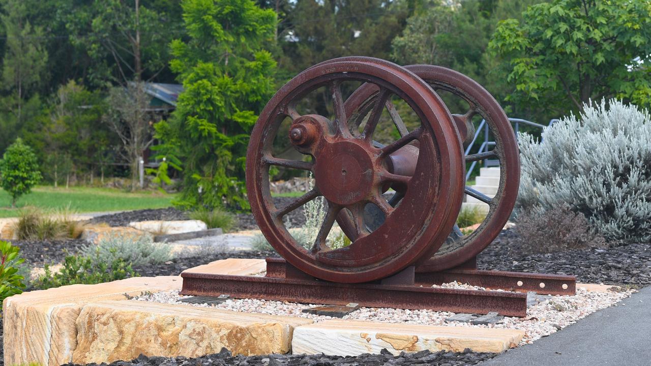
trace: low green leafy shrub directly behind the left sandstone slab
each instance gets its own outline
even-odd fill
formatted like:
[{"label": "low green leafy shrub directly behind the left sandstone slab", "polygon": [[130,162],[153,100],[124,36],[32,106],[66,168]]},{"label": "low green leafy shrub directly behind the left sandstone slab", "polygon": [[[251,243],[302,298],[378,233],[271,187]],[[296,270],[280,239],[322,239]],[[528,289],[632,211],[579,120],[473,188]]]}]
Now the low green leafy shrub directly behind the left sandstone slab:
[{"label": "low green leafy shrub directly behind the left sandstone slab", "polygon": [[38,277],[32,285],[35,289],[45,290],[80,283],[94,285],[135,276],[137,274],[133,272],[131,264],[124,259],[116,257],[110,262],[104,262],[100,260],[97,251],[92,257],[68,255],[59,272],[51,272],[46,264],[45,274]]}]

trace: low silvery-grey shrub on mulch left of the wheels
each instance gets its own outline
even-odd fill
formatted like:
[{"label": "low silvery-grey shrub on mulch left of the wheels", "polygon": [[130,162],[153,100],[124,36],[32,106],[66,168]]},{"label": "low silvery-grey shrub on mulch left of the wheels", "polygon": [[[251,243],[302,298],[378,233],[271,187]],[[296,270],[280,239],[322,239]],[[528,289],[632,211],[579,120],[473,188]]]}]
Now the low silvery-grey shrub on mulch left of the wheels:
[{"label": "low silvery-grey shrub on mulch left of the wheels", "polygon": [[109,233],[97,245],[89,244],[81,249],[81,255],[96,260],[96,264],[123,260],[132,266],[160,264],[171,258],[169,244],[154,243],[150,236],[134,236]]}]

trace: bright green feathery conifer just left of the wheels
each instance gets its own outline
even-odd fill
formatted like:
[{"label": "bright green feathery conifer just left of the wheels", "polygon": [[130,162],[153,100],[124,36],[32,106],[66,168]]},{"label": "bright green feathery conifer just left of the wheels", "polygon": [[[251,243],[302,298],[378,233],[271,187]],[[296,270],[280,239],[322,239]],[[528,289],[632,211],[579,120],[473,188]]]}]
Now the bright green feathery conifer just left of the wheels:
[{"label": "bright green feathery conifer just left of the wheels", "polygon": [[171,48],[185,91],[157,125],[184,167],[182,204],[247,208],[244,163],[256,115],[274,91],[276,14],[252,0],[184,0],[187,39]]}]

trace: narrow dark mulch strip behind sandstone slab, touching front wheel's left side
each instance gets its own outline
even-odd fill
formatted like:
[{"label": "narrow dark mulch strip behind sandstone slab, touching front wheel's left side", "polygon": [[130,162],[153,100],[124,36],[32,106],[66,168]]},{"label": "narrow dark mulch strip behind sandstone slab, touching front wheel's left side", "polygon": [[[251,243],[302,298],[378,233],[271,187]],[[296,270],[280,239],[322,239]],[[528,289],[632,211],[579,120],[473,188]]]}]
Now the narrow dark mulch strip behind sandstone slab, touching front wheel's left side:
[{"label": "narrow dark mulch strip behind sandstone slab, touching front wheel's left side", "polygon": [[156,266],[134,267],[133,270],[143,277],[156,275],[178,275],[187,268],[200,266],[219,259],[227,258],[257,258],[277,257],[274,252],[267,251],[236,251],[232,253],[214,253],[212,255],[202,255],[201,257],[174,258],[163,264]]}]

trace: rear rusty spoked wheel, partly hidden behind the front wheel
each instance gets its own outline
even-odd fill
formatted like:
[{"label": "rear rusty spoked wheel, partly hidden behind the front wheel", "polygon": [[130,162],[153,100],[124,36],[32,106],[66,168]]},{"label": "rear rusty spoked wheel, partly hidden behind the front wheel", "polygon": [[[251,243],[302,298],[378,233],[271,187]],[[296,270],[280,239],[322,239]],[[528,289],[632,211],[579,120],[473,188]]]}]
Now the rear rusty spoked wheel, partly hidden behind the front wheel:
[{"label": "rear rusty spoked wheel, partly hidden behind the front wheel", "polygon": [[[355,59],[351,57],[349,59]],[[433,65],[405,66],[409,71],[421,77],[434,91],[447,91],[457,98],[465,100],[469,105],[466,113],[453,115],[457,128],[464,141],[473,138],[475,128],[471,119],[480,115],[486,120],[490,131],[495,138],[495,147],[488,152],[469,154],[465,162],[475,162],[484,159],[496,159],[500,163],[500,179],[494,197],[488,197],[469,186],[465,186],[465,194],[475,197],[488,204],[488,214],[480,226],[471,234],[464,235],[454,225],[445,243],[438,249],[431,259],[421,262],[417,267],[419,272],[434,272],[453,268],[471,260],[490,244],[504,227],[513,210],[518,195],[519,186],[519,150],[512,127],[503,109],[493,96],[470,77],[449,68]],[[374,85],[362,85],[346,100],[346,113],[352,124],[361,123],[360,116],[368,113],[374,103],[373,95],[377,94]],[[377,97],[376,97],[377,98]],[[400,121],[395,108],[387,104],[393,111],[392,119]],[[400,134],[409,134],[409,130],[402,125],[398,128]],[[463,180],[460,180],[463,182]],[[389,201],[393,206],[400,204],[403,192],[396,190],[394,197]],[[350,218],[339,216],[339,225],[344,232],[352,232]],[[383,216],[378,212],[367,211],[365,225],[374,227],[381,223]]]}]

